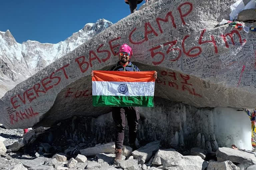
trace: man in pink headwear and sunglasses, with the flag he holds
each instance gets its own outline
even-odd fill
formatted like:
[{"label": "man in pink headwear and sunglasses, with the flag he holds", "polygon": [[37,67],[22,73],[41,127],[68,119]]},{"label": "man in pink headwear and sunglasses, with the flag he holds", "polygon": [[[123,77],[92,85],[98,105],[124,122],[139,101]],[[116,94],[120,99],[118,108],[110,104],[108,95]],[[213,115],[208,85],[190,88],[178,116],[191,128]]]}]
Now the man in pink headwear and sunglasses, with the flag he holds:
[{"label": "man in pink headwear and sunglasses, with the flag he holds", "polygon": [[[107,71],[97,71],[97,74],[99,76],[96,77],[94,72],[91,71],[91,77],[93,81],[92,82],[93,83],[93,105],[94,106],[116,106],[116,107],[112,107],[112,117],[115,123],[115,136],[116,136],[116,140],[115,140],[116,149],[115,149],[115,160],[114,160],[115,164],[120,163],[123,155],[123,141],[124,141],[124,130],[126,126],[126,119],[129,126],[130,146],[133,148],[133,150],[137,149],[135,145],[135,140],[136,140],[137,127],[139,124],[138,120],[140,119],[140,116],[139,116],[137,107],[134,107],[134,106],[153,107],[154,85],[155,85],[154,83],[155,83],[155,79],[157,78],[157,72],[150,71],[145,73],[142,73],[142,72],[136,73],[140,70],[136,65],[132,64],[132,62],[129,61],[132,54],[133,54],[132,48],[129,45],[127,44],[121,45],[119,49],[119,61],[115,66],[113,66],[110,69],[110,71],[124,71],[122,74],[130,74],[130,76],[132,76],[131,78],[125,79],[123,78],[124,76],[118,75],[118,74],[109,75],[105,73]],[[127,73],[127,71],[132,71],[132,72]],[[106,79],[112,79],[112,80],[106,80],[107,83],[104,84],[104,80],[101,79],[101,76],[102,77],[105,76],[107,77]],[[117,81],[125,81],[127,84],[117,84],[118,85],[117,86],[115,84],[117,83]],[[117,92],[115,92],[116,89],[118,90]],[[105,91],[111,91],[111,92],[105,92]]]}]

